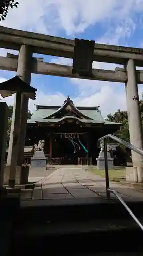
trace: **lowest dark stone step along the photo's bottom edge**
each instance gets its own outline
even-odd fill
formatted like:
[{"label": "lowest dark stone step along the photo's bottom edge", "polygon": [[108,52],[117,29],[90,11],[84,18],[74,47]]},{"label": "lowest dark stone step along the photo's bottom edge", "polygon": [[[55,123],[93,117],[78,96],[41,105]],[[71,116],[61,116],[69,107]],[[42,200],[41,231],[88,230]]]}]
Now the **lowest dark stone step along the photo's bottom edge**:
[{"label": "lowest dark stone step along the photo's bottom edge", "polygon": [[[142,231],[132,221],[91,220],[27,225],[15,230],[10,253],[25,255],[89,255],[97,252],[142,251]],[[8,254],[9,256],[10,254]]]}]

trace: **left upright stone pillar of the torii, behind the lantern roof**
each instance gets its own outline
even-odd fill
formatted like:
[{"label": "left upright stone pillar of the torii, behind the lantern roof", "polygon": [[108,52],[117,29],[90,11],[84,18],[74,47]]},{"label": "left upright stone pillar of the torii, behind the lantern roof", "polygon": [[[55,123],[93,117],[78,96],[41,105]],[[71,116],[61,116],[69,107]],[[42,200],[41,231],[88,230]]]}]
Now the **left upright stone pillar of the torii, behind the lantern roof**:
[{"label": "left upright stone pillar of the torii, behind the lantern roof", "polygon": [[[21,80],[30,84],[31,81],[31,63],[32,63],[32,51],[30,46],[22,45],[19,50],[18,56],[18,67],[17,67],[17,75],[20,76]],[[16,98],[16,96],[15,96]],[[20,130],[19,130],[19,147],[18,147],[18,157],[17,157],[17,165],[22,166],[23,157],[24,157],[24,144],[25,144],[25,134],[26,134],[26,124],[27,124],[27,112],[28,112],[28,97],[22,94],[21,98],[21,113],[20,113]],[[7,157],[7,165],[9,166],[11,163],[11,155],[12,155],[12,144],[13,144],[13,126],[15,119],[15,102],[13,106],[13,115],[12,115],[12,125],[11,125],[11,133],[10,133],[10,141],[9,141],[9,150]]]}]

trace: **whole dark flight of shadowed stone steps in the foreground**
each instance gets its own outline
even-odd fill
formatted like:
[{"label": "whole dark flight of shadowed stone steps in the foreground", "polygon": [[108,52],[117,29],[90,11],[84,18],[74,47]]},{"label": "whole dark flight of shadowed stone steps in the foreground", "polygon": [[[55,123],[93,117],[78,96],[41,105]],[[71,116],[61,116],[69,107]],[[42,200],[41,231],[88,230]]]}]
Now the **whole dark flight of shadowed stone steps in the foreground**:
[{"label": "whole dark flight of shadowed stone steps in the foreground", "polygon": [[[41,203],[40,203],[41,202]],[[143,203],[128,202],[143,222]],[[142,251],[142,230],[117,200],[21,202],[16,212],[8,256],[89,255],[108,251]]]}]

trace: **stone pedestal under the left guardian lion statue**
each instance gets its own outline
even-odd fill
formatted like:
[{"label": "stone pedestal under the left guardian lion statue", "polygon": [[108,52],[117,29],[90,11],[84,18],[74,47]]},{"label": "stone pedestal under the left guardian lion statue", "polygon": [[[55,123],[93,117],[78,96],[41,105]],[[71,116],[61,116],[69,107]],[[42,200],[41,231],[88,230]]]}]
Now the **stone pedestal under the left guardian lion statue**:
[{"label": "stone pedestal under the left guardian lion statue", "polygon": [[36,151],[31,157],[31,167],[46,167],[46,160],[43,151]]}]

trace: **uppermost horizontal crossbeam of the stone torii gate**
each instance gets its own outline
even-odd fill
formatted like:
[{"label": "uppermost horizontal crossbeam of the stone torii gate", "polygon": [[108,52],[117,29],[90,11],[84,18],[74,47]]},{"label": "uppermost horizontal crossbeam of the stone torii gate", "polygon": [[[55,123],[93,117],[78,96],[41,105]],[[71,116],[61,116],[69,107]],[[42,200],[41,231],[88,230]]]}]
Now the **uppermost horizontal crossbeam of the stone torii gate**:
[{"label": "uppermost horizontal crossbeam of the stone torii gate", "polygon": [[[32,46],[35,53],[73,58],[74,40],[0,26],[0,47],[19,50],[23,44]],[[94,45],[93,61],[125,64],[128,59],[134,59],[136,66],[142,66],[143,49]]]}]

